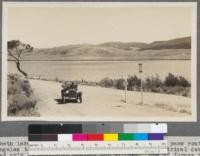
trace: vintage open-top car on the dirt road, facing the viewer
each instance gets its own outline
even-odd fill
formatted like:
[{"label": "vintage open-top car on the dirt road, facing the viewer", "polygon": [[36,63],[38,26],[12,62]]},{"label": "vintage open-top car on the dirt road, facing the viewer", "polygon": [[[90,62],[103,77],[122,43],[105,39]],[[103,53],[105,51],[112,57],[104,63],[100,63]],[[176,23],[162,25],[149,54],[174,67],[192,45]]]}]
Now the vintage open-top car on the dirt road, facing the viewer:
[{"label": "vintage open-top car on the dirt road, facing the viewer", "polygon": [[73,82],[71,85],[68,85],[65,83],[62,84],[62,90],[61,90],[61,97],[62,102],[65,103],[66,101],[75,101],[82,103],[82,92],[78,91],[78,85],[74,84]]}]

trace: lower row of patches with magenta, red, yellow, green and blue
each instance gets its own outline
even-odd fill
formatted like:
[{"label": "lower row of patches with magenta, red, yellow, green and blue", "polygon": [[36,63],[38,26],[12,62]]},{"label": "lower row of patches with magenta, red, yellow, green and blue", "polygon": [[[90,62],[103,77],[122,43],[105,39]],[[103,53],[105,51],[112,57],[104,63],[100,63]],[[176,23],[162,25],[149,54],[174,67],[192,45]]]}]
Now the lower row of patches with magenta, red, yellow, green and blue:
[{"label": "lower row of patches with magenta, red, yellow, green and blue", "polygon": [[164,140],[163,133],[37,134],[29,141],[145,141]]}]

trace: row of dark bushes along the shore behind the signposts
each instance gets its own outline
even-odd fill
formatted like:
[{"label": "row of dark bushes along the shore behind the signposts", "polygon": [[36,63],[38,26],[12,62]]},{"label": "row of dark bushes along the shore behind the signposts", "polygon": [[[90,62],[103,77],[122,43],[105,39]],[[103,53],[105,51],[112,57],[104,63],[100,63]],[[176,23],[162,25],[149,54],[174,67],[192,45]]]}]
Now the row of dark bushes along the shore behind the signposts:
[{"label": "row of dark bushes along the shore behind the signposts", "polygon": [[[136,75],[129,76],[127,79],[127,90],[140,91],[141,79]],[[125,79],[110,79],[104,78],[99,82],[99,85],[106,88],[125,89]],[[169,73],[164,80],[161,80],[158,75],[145,78],[143,81],[144,92],[165,93],[181,95],[185,97],[191,96],[191,84],[182,76],[176,76]]]}]

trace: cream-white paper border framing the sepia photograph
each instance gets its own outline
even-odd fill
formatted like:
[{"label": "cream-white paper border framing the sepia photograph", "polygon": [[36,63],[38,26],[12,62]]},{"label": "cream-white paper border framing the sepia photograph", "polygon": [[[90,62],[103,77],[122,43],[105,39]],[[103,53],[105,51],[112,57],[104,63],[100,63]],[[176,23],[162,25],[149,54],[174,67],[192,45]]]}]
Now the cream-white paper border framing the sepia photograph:
[{"label": "cream-white paper border framing the sepia photograph", "polygon": [[[192,7],[191,112],[190,117],[9,117],[7,116],[7,8],[8,7]],[[2,5],[2,121],[197,121],[197,3],[196,2],[3,2]]]}]

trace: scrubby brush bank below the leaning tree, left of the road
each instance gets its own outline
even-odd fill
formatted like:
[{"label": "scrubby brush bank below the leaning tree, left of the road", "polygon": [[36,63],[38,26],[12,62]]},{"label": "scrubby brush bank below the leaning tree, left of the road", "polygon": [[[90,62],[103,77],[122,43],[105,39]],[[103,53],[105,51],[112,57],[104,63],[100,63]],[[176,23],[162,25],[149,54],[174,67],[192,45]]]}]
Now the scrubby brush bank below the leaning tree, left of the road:
[{"label": "scrubby brush bank below the leaning tree, left of the road", "polygon": [[37,99],[28,79],[18,74],[8,75],[8,116],[40,116]]}]

